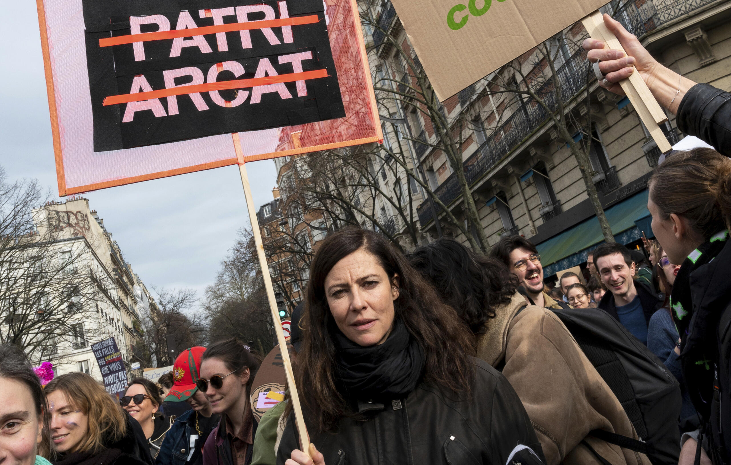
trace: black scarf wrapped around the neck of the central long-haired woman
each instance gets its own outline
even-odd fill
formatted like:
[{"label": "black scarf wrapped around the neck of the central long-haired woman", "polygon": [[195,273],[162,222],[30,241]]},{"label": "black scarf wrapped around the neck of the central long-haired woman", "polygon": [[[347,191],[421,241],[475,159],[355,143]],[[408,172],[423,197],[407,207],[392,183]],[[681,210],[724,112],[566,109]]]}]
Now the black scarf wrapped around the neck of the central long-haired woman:
[{"label": "black scarf wrapped around the neck of the central long-haired woman", "polygon": [[395,320],[383,344],[362,347],[332,325],[338,382],[346,398],[398,398],[412,392],[424,371],[424,351],[406,325]]}]

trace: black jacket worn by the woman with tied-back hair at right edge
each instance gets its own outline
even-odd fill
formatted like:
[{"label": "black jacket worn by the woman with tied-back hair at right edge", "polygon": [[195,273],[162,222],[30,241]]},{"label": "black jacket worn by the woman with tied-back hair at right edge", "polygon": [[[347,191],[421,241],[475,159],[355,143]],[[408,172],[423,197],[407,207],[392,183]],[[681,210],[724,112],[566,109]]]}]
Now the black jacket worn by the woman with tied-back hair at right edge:
[{"label": "black jacket worn by the woman with tied-back hair at right edge", "polygon": [[[693,315],[683,343],[683,378],[706,424],[714,465],[731,464],[731,241],[690,275]],[[682,337],[682,336],[681,336]],[[705,354],[705,366],[691,353]],[[703,372],[707,372],[704,374]]]}]

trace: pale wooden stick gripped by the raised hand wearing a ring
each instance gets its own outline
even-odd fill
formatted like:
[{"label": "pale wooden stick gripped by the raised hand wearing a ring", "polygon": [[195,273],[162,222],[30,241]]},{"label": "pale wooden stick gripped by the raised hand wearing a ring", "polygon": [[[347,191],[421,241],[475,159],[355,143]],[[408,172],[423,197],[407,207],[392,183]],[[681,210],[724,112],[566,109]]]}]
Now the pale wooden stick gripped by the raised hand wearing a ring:
[{"label": "pale wooden stick gripped by the raised hand wearing a ring", "polygon": [[[624,51],[617,37],[605,26],[602,13],[598,10],[583,18],[581,23],[583,23],[592,39],[605,42],[607,48],[612,50]],[[667,137],[665,137],[664,132],[662,132],[659,126],[659,124],[667,121],[667,116],[665,116],[662,107],[660,107],[655,97],[653,97],[642,76],[637,72],[637,69],[635,68],[635,72],[629,75],[629,78],[619,81],[619,85],[622,86],[622,90],[627,94],[629,102],[637,110],[637,114],[645,124],[645,127],[647,127],[647,130],[655,140],[660,151],[664,154],[673,150],[673,146],[667,142]]]}]

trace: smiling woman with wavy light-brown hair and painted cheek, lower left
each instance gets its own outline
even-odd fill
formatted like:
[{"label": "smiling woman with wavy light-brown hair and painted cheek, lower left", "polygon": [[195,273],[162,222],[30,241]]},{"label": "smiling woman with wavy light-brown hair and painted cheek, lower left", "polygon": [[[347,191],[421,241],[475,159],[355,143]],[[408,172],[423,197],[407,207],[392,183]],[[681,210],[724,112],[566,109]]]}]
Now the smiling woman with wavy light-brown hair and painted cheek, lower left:
[{"label": "smiling woman with wavy light-brown hair and painted cheek, lower left", "polygon": [[[115,404],[88,374],[62,374],[45,386],[50,406],[55,465],[143,465],[144,443],[137,441],[135,420]],[[140,431],[140,430],[137,430]]]}]

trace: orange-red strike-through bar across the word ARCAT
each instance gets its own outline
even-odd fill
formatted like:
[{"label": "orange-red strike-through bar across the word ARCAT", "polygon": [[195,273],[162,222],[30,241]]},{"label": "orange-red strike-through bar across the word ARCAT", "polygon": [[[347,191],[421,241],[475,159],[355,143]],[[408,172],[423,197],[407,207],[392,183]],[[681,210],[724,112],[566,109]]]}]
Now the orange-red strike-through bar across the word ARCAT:
[{"label": "orange-red strike-through bar across the word ARCAT", "polygon": [[[193,29],[189,29],[189,31],[193,31]],[[142,100],[160,99],[162,97],[170,97],[172,95],[186,95],[209,91],[227,91],[232,88],[249,88],[266,86],[267,84],[291,83],[295,80],[317,79],[319,77],[327,77],[327,69],[291,72],[286,75],[254,77],[252,79],[223,80],[220,83],[164,88],[159,91],[137,92],[137,94],[112,95],[104,99],[103,105],[107,106],[117,105],[118,103],[141,102]]]}]

